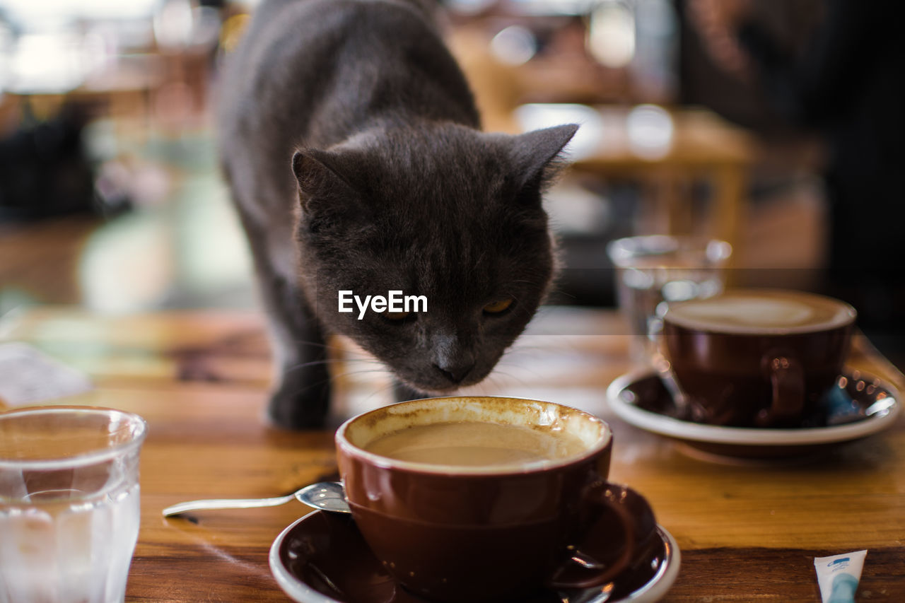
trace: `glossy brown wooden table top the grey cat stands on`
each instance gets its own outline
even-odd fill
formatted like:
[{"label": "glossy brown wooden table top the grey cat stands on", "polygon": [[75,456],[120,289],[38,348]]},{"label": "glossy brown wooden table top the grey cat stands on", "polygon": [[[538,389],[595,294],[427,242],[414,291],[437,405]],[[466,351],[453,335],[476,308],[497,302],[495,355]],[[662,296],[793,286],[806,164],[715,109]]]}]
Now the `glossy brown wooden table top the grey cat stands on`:
[{"label": "glossy brown wooden table top the grey cat stands on", "polygon": [[[608,311],[542,311],[483,391],[553,399],[613,426],[612,479],[630,483],[679,542],[681,574],[665,601],[819,600],[813,558],[868,549],[860,601],[905,600],[905,426],[818,459],[719,464],[684,454],[616,418],[605,388],[627,370],[627,337]],[[87,371],[96,388],[62,399],[148,419],[141,531],[129,601],[287,601],[267,564],[297,504],[165,520],[169,504],[272,496],[333,474],[332,432],[262,423],[270,366],[253,313],[176,312],[102,318],[65,308],[7,317],[21,340]],[[348,350],[347,357],[358,352]],[[852,363],[905,379],[859,341]],[[369,369],[364,365],[363,369]],[[339,379],[339,413],[386,402],[380,374]]]}]

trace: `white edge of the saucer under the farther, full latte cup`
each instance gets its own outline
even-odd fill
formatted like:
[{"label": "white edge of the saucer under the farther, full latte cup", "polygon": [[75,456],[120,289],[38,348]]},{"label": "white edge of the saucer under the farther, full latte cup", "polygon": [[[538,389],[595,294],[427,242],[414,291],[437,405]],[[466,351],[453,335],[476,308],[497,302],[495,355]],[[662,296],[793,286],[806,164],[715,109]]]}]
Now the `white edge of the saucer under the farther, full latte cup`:
[{"label": "white edge of the saucer under the farther, full latte cup", "polygon": [[[882,388],[890,393],[890,406],[856,423],[838,426],[806,427],[801,429],[769,429],[752,427],[711,426],[691,421],[682,421],[672,416],[636,407],[622,396],[622,392],[632,383],[656,373],[653,369],[638,370],[616,378],[606,388],[606,400],[613,412],[626,423],[640,427],[661,436],[709,444],[783,446],[818,445],[847,442],[875,434],[891,426],[901,410],[901,394],[889,382],[879,379]],[[862,373],[864,378],[872,376]]]}]

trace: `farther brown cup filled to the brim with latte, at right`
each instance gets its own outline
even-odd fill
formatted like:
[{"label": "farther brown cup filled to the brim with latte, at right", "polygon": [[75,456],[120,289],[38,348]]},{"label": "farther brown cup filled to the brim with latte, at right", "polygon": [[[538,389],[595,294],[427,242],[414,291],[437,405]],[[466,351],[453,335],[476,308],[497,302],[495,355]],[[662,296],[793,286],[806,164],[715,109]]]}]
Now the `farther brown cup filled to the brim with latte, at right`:
[{"label": "farther brown cup filled to the brim with latte, at right", "polygon": [[[856,312],[805,292],[737,289],[671,304],[662,342],[686,418],[719,426],[819,426]],[[811,425],[814,423],[814,425]]]}]

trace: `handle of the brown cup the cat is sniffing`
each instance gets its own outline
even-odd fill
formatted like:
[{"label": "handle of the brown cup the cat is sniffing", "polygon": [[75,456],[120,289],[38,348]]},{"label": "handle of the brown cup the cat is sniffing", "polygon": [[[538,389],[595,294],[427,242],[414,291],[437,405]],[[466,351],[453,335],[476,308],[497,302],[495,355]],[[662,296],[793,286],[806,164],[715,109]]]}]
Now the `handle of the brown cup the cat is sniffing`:
[{"label": "handle of the brown cup the cat is sniffing", "polygon": [[[612,581],[625,569],[646,558],[660,542],[651,505],[631,488],[600,482],[585,494],[586,522],[579,541],[568,548],[568,558],[548,586],[553,589],[590,589]],[[614,534],[623,534],[613,549]],[[610,545],[610,546],[607,546]]]}]

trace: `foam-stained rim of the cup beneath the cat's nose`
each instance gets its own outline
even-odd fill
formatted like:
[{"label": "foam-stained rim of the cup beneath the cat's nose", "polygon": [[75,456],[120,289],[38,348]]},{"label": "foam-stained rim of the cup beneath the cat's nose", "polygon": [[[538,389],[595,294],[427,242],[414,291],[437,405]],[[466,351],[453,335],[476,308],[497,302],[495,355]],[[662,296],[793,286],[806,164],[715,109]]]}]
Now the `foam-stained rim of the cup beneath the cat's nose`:
[{"label": "foam-stained rim of the cup beneath the cat's nose", "polygon": [[[527,403],[537,403],[543,405],[553,405],[555,407],[566,408],[570,412],[578,413],[581,416],[585,416],[589,421],[599,425],[603,429],[603,436],[601,436],[594,445],[587,447],[578,455],[567,456],[566,458],[556,459],[556,460],[542,460],[542,461],[533,461],[531,463],[524,464],[498,464],[491,466],[469,466],[469,465],[453,465],[453,464],[433,464],[433,463],[416,463],[414,461],[402,461],[395,458],[390,458],[388,456],[376,455],[375,453],[368,452],[364,448],[361,448],[357,445],[352,444],[349,441],[346,433],[348,431],[348,427],[351,426],[356,421],[360,421],[365,419],[367,416],[372,416],[377,413],[386,413],[393,412],[395,407],[402,407],[405,405],[410,405],[413,403],[424,403],[427,400],[431,401],[452,401],[452,400],[516,400],[519,402],[527,402]],[[537,400],[528,397],[509,397],[509,396],[444,396],[444,397],[424,397],[418,398],[415,400],[406,400],[405,402],[396,402],[395,404],[390,404],[385,407],[374,408],[372,410],[368,410],[364,413],[360,413],[356,416],[352,416],[348,418],[342,425],[340,425],[337,429],[336,436],[334,437],[336,445],[338,449],[342,449],[350,456],[357,457],[359,460],[366,462],[367,464],[371,464],[373,466],[382,468],[382,469],[394,469],[394,470],[402,470],[409,473],[418,473],[418,474],[433,474],[433,475],[444,475],[444,476],[500,476],[500,475],[511,475],[511,474],[532,474],[541,471],[548,471],[551,469],[557,469],[560,467],[566,467],[572,464],[581,463],[586,461],[589,458],[593,458],[596,455],[599,455],[602,451],[606,449],[608,445],[610,445],[613,441],[613,429],[599,416],[595,416],[585,410],[581,410],[576,407],[569,407],[565,404],[560,404],[558,402],[550,402],[548,400]]]}]

